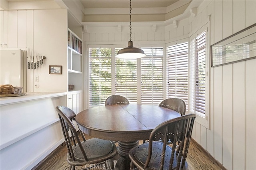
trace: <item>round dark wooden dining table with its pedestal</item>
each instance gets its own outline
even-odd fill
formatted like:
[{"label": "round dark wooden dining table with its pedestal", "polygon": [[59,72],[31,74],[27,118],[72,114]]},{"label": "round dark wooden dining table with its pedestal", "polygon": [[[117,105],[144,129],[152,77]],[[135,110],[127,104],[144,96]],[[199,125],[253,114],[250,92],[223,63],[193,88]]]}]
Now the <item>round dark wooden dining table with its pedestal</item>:
[{"label": "round dark wooden dining table with its pedestal", "polygon": [[118,141],[115,170],[125,170],[130,165],[129,150],[148,139],[160,123],[176,117],[180,117],[176,111],[153,105],[103,105],[81,111],[76,123],[85,134]]}]

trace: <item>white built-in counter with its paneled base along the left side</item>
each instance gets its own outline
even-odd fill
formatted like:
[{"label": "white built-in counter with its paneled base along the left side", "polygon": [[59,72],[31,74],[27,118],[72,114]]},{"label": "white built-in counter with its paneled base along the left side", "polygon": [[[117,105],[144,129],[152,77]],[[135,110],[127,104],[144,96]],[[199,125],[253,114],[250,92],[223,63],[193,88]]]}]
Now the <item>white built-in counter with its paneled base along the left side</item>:
[{"label": "white built-in counter with its paneled base along the left side", "polygon": [[0,98],[0,169],[32,169],[62,144],[58,105],[67,92]]}]

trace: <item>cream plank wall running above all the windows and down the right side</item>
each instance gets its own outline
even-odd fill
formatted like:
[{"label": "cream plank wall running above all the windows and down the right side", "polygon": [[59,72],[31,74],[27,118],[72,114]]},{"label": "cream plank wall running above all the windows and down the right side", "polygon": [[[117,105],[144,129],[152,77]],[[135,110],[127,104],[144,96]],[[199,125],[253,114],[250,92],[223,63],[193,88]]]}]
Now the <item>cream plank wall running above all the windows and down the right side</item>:
[{"label": "cream plank wall running above all the windows and down the right side", "polygon": [[[197,8],[196,16],[178,21],[177,28],[173,24],[154,29],[132,23],[132,40],[134,46],[173,42],[188,38],[208,23],[210,49],[210,45],[256,23],[255,9],[256,1],[252,0],[205,0]],[[121,31],[118,26],[88,26],[84,34],[86,50],[88,44],[127,46],[129,38],[128,26]],[[210,56],[207,57],[210,62]],[[88,56],[84,59],[84,70],[88,71],[86,65]],[[225,168],[255,170],[256,59],[210,68],[209,76],[210,128],[196,123],[192,137]]]}]

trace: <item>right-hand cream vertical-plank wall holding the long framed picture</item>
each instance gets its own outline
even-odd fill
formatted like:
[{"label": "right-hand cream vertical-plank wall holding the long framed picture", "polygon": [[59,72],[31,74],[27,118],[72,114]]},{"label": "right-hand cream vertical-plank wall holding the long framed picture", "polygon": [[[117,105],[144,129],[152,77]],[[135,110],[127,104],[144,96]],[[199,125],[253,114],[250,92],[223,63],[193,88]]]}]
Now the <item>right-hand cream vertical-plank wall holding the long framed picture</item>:
[{"label": "right-hand cream vertical-plank wall holding the long framed picture", "polygon": [[[255,9],[250,0],[204,1],[196,18],[210,15],[211,45],[256,23]],[[193,138],[227,169],[256,169],[255,67],[250,59],[210,68],[210,128],[196,123]]]}]

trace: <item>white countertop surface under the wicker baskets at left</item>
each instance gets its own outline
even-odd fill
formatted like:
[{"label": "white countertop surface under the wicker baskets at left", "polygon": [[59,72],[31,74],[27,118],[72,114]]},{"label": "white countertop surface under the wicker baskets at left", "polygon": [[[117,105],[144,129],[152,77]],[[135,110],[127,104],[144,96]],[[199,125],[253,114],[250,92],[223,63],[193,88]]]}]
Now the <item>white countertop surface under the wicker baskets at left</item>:
[{"label": "white countertop surface under the wicker baskets at left", "polygon": [[20,103],[44,98],[59,97],[67,94],[68,92],[36,92],[26,93],[26,95],[18,97],[0,97],[0,105],[9,105],[13,103]]}]

